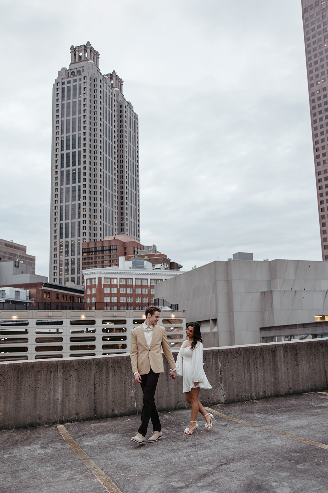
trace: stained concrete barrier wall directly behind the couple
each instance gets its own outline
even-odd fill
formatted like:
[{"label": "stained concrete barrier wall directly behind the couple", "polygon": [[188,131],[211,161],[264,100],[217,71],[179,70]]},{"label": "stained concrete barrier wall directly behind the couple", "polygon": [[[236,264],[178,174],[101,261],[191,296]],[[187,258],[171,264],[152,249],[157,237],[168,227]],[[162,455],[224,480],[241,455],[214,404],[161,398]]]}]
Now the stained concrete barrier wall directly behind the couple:
[{"label": "stained concrete barrier wall directly behind the couple", "polygon": [[[176,356],[177,352],[173,352]],[[328,339],[204,350],[212,385],[204,405],[327,390]],[[160,411],[186,408],[182,378],[164,358],[156,391]],[[98,420],[141,412],[142,392],[129,355],[0,364],[0,429]]]}]

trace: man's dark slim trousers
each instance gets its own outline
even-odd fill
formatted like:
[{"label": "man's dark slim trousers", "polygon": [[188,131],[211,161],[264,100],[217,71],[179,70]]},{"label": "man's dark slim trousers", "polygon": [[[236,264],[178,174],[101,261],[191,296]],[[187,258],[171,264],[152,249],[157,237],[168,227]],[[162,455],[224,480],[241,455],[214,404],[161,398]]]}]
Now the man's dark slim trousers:
[{"label": "man's dark slim trousers", "polygon": [[146,436],[149,419],[151,420],[154,431],[161,430],[161,423],[155,406],[155,391],[159,373],[154,373],[150,369],[149,373],[140,376],[142,380],[140,385],[144,393],[144,405],[141,412],[141,426],[138,431],[143,436]]}]

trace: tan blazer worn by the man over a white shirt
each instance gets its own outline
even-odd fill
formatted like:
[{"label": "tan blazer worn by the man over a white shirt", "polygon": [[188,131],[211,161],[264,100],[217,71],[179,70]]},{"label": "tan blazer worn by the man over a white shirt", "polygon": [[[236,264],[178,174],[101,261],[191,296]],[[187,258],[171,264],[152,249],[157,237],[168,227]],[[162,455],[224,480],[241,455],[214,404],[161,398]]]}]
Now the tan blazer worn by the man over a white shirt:
[{"label": "tan blazer worn by the man over a white shirt", "polygon": [[150,368],[154,373],[163,373],[164,366],[161,346],[170,368],[175,368],[176,362],[172,356],[164,327],[160,325],[154,326],[150,348],[146,342],[144,324],[133,328],[131,330],[130,354],[133,373],[137,371],[140,375],[147,375]]}]

